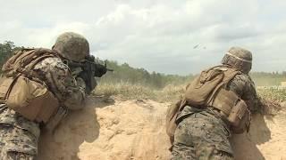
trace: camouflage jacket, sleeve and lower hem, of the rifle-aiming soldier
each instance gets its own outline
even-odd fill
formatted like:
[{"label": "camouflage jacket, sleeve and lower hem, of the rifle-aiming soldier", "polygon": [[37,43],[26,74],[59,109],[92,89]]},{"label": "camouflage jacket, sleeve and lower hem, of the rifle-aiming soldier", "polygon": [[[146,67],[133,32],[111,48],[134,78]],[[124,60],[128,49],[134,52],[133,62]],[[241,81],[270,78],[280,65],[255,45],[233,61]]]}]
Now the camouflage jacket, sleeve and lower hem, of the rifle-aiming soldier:
[{"label": "camouflage jacket, sleeve and lower hem, of the rifle-aiming soldier", "polygon": [[[84,107],[86,99],[85,83],[71,76],[71,71],[60,58],[46,58],[33,69],[38,73],[38,78],[46,83],[48,89],[53,92],[60,101],[61,108],[80,109]],[[5,105],[0,105],[0,124],[11,124],[38,135],[38,124],[31,122]]]}]

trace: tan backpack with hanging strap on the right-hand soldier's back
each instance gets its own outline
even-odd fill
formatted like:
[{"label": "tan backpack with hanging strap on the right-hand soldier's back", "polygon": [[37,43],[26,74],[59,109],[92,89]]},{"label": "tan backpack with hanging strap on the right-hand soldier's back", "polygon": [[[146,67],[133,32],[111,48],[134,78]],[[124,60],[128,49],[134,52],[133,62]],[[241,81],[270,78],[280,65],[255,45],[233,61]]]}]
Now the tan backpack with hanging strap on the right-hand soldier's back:
[{"label": "tan backpack with hanging strap on the right-hand soldier's back", "polygon": [[197,108],[206,108],[207,104],[214,100],[215,93],[231,81],[231,79],[240,74],[240,71],[226,66],[216,66],[201,72],[186,87],[186,92],[181,100],[167,109],[166,114],[166,132],[173,142],[174,132],[177,128],[176,119],[181,110],[189,105]]}]

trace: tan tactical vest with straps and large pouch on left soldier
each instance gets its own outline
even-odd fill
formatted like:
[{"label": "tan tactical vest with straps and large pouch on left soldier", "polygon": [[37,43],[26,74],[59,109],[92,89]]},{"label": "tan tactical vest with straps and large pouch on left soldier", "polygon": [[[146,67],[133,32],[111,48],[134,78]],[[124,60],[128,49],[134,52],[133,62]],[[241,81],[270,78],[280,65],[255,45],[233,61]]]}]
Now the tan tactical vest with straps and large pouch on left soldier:
[{"label": "tan tactical vest with straps and large pouch on left soldier", "polygon": [[59,108],[59,101],[48,90],[33,68],[49,57],[57,57],[48,49],[21,49],[4,64],[4,81],[0,85],[0,100],[21,116],[46,123]]}]

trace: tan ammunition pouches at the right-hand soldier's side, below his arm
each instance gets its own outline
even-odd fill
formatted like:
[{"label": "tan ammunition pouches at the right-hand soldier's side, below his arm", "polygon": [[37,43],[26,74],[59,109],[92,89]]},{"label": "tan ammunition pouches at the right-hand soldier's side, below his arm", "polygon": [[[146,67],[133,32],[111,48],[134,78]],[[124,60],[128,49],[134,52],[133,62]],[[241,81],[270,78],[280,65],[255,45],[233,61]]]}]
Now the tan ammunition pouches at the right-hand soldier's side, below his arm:
[{"label": "tan ammunition pouches at the right-hand soldier's side, below his arm", "polygon": [[220,89],[208,106],[220,110],[223,119],[231,124],[231,132],[242,133],[248,131],[250,125],[250,111],[244,100],[236,93]]}]

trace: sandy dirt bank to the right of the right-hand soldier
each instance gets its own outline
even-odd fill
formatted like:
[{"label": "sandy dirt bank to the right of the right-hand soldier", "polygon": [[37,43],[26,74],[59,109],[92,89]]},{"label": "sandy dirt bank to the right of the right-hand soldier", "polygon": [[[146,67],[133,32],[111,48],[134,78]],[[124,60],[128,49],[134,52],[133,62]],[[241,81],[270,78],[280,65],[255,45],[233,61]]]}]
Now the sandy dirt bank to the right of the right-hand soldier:
[{"label": "sandy dirt bank to the right of the right-hand soldier", "polygon": [[254,116],[248,134],[231,139],[236,159],[286,160],[286,113],[276,116]]}]

